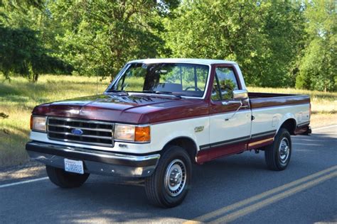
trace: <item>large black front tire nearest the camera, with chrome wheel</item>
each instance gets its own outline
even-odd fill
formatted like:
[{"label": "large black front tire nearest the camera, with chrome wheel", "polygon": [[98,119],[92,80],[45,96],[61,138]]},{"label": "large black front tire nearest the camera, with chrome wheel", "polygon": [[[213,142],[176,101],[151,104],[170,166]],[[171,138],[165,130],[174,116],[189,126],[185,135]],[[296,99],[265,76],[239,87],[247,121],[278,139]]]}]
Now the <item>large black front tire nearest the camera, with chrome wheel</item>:
[{"label": "large black front tire nearest the camera, with chrome wheel", "polygon": [[[183,164],[181,164],[181,162],[183,162]],[[178,167],[178,169],[179,167],[181,168],[178,170],[174,169],[174,167]],[[183,169],[185,169],[185,171],[183,171]],[[181,173],[181,178],[179,173]],[[177,174],[178,176],[171,176]],[[145,180],[146,196],[150,203],[155,206],[164,208],[178,206],[183,202],[190,188],[191,175],[192,163],[186,150],[176,145],[169,145],[164,151],[164,154],[161,155],[154,174]],[[174,178],[168,180],[166,177],[178,177],[178,181]],[[171,181],[176,181],[176,183]],[[171,184],[175,185],[172,186]],[[173,191],[173,189],[171,189],[172,187],[178,187],[178,189]]]}]

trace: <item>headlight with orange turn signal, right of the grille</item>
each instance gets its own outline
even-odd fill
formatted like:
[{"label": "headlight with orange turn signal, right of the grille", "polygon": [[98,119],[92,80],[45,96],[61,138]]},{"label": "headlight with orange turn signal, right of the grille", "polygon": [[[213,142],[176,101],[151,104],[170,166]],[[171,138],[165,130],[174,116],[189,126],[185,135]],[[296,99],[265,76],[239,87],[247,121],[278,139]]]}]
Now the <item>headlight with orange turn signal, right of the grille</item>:
[{"label": "headlight with orange turn signal, right of the grille", "polygon": [[121,125],[114,126],[114,139],[128,142],[149,142],[150,126]]}]

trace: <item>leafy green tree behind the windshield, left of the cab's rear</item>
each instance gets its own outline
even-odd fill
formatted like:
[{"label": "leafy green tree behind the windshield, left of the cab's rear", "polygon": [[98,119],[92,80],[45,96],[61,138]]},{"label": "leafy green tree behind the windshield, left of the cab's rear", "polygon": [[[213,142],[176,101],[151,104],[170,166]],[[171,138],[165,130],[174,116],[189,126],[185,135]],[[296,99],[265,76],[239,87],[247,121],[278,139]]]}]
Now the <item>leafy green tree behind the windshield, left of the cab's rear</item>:
[{"label": "leafy green tree behind the windshield, left of the cab's rear", "polygon": [[60,57],[80,74],[113,78],[128,60],[156,57],[161,17],[178,1],[56,1],[53,18],[64,33],[58,37]]}]

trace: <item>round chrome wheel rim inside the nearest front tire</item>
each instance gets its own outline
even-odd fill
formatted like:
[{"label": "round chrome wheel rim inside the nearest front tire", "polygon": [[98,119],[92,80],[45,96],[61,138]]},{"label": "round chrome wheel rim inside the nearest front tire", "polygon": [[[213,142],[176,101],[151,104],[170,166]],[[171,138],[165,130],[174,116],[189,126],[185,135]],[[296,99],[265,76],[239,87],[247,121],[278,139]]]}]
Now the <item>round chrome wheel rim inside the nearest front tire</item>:
[{"label": "round chrome wheel rim inside the nearest front tire", "polygon": [[174,159],[166,169],[165,189],[170,196],[178,196],[186,184],[186,166],[181,159]]}]

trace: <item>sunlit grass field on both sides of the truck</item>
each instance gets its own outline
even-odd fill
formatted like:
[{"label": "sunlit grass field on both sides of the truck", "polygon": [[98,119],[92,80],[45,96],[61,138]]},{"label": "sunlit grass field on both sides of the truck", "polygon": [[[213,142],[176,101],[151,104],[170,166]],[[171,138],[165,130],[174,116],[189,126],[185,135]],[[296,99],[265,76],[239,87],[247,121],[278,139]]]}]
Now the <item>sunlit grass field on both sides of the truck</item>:
[{"label": "sunlit grass field on both sides of the truck", "polygon": [[[24,145],[28,141],[29,117],[34,106],[95,95],[97,91],[95,77],[44,75],[36,84],[21,77],[13,78],[10,83],[1,80],[4,80],[4,77],[0,76],[0,167],[28,161]],[[98,92],[102,93],[108,85],[107,80],[99,82]],[[337,123],[337,93],[257,87],[249,87],[248,90],[309,94],[313,114],[311,125],[318,127]]]}]

